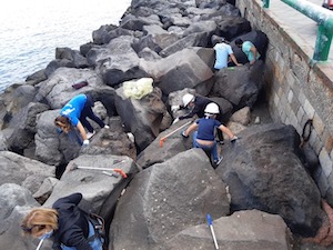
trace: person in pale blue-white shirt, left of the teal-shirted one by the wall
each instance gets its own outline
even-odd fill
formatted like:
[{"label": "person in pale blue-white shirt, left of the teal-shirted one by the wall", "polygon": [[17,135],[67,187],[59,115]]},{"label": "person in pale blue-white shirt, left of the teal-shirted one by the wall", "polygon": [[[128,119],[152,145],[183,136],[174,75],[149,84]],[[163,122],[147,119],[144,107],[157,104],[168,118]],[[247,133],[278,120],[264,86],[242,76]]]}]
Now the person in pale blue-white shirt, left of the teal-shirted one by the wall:
[{"label": "person in pale blue-white shirt, left of the teal-shirted one by the wall", "polygon": [[238,59],[233,54],[232,48],[226,43],[225,40],[220,39],[219,43],[214,46],[215,50],[215,63],[214,69],[220,70],[228,67],[230,59],[234,62],[235,66],[242,66],[238,62]]}]

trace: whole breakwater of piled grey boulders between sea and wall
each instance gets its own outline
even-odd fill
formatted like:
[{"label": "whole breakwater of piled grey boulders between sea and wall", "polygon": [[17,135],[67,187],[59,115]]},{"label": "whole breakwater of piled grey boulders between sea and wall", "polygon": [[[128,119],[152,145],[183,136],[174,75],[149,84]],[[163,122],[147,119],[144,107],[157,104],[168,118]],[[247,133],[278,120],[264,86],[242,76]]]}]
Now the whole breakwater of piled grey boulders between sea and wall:
[{"label": "whole breakwater of piled grey boulders between sea and wall", "polygon": [[[331,244],[332,210],[309,171],[317,161],[289,124],[251,120],[262,101],[264,63],[253,67],[234,46],[251,40],[264,59],[268,39],[225,0],[133,0],[119,26],[102,26],[80,51],[56,59],[1,94],[1,234],[3,249],[34,249],[20,220],[32,207],[81,192],[82,208],[105,218],[108,248],[212,249],[206,213],[223,249],[296,249],[294,238]],[[214,39],[231,41],[241,67],[213,70]],[[152,79],[138,98],[127,88]],[[73,83],[85,81],[82,88]],[[220,146],[213,169],[191,138],[172,133],[189,120],[171,111],[184,93],[211,98],[241,137]],[[110,126],[82,148],[53,124],[72,97],[89,93]],[[258,119],[256,119],[258,120]],[[179,130],[180,131],[180,130]],[[131,132],[134,141],[128,137]],[[127,178],[77,167],[119,168]],[[65,170],[65,171],[64,171]]]}]

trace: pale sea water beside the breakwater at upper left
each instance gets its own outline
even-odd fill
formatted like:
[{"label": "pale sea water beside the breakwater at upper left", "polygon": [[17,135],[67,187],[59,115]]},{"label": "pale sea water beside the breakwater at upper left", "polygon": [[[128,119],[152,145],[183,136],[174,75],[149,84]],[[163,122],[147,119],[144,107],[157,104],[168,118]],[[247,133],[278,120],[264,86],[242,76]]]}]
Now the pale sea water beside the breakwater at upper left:
[{"label": "pale sea water beside the breakwater at upper left", "polygon": [[56,48],[79,50],[92,31],[119,24],[131,0],[10,0],[0,8],[0,92],[24,82],[56,59]]}]

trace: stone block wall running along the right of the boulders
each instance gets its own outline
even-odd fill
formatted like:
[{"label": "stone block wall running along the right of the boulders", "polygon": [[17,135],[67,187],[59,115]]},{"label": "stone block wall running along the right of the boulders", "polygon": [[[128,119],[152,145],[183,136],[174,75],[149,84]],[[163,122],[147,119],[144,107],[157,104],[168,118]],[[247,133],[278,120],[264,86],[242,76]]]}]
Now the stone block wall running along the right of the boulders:
[{"label": "stone block wall running along the right of the boulders", "polygon": [[305,122],[313,121],[307,143],[321,163],[315,179],[322,196],[333,204],[333,67],[311,63],[313,49],[291,33],[287,23],[263,9],[262,1],[239,0],[236,7],[254,30],[269,37],[265,79],[273,120],[294,126],[301,136]]}]

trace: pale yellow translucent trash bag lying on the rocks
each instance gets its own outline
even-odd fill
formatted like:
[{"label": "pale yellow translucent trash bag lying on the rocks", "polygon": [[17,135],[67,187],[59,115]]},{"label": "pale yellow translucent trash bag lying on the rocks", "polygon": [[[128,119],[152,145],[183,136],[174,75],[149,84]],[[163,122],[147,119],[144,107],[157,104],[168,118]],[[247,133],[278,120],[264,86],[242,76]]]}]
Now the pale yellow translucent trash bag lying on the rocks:
[{"label": "pale yellow translucent trash bag lying on the rocks", "polygon": [[152,83],[152,78],[125,81],[123,83],[123,93],[127,98],[134,98],[139,100],[153,91]]}]

